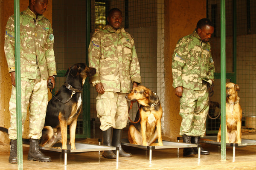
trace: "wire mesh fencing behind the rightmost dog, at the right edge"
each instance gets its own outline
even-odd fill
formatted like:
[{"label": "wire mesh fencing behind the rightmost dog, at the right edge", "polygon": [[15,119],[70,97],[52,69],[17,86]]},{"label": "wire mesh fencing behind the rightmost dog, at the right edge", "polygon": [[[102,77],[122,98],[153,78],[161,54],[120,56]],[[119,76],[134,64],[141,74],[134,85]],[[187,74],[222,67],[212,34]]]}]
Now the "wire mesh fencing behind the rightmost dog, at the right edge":
[{"label": "wire mesh fencing behind the rightmost dog, at the right edge", "polygon": [[[207,16],[215,24],[211,40],[216,73],[220,73],[220,0],[207,0]],[[239,85],[243,132],[256,129],[256,1],[226,0],[226,82]],[[220,79],[220,77],[218,77]],[[220,103],[220,84],[215,81],[212,101]],[[214,113],[219,112],[215,108]],[[213,111],[213,110],[212,110]],[[220,120],[207,120],[207,133],[217,133]]]}]

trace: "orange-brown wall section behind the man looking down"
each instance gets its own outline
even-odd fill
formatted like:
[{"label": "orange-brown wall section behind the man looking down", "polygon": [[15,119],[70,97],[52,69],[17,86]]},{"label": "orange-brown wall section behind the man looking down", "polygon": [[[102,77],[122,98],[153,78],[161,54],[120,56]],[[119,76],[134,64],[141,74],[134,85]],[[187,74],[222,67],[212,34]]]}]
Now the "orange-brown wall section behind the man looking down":
[{"label": "orange-brown wall section behind the man looking down", "polygon": [[177,41],[206,17],[206,0],[165,0],[165,127],[164,135],[177,139],[180,131],[179,98],[172,87],[172,54]]}]

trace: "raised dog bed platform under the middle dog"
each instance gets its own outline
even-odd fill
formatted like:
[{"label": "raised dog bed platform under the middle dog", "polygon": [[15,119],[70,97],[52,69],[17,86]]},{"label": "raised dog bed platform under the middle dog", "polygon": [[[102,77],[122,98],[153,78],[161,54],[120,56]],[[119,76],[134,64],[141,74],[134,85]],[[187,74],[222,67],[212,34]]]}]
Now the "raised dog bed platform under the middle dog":
[{"label": "raised dog bed platform under the middle dog", "polygon": [[152,161],[152,150],[155,150],[155,149],[177,148],[178,155],[179,155],[179,148],[198,147],[198,151],[199,151],[198,158],[200,158],[200,150],[201,150],[200,144],[189,144],[189,143],[171,142],[171,141],[164,141],[164,140],[163,140],[163,146],[144,146],[144,145],[139,145],[139,144],[131,144],[128,139],[122,139],[122,145],[149,150],[149,161]]}]

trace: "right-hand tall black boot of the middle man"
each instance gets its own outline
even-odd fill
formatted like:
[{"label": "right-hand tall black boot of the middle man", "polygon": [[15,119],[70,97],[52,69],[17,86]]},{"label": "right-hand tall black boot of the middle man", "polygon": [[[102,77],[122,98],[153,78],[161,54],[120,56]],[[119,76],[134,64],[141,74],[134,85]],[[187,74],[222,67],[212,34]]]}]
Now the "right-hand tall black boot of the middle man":
[{"label": "right-hand tall black boot of the middle man", "polygon": [[[113,129],[112,146],[119,147],[119,156],[131,157],[131,153],[126,153],[122,149],[121,139],[122,139],[122,129]],[[113,150],[113,153],[116,154],[116,150]]]}]

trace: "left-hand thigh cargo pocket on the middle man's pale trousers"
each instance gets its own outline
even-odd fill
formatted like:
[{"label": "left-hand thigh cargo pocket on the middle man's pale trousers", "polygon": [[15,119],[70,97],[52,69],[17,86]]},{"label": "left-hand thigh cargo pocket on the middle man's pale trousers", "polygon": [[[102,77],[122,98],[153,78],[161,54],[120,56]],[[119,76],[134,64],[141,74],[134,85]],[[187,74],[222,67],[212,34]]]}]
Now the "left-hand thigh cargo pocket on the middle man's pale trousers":
[{"label": "left-hand thigh cargo pocket on the middle man's pale trousers", "polygon": [[98,94],[96,97],[96,110],[97,116],[111,116],[110,99],[108,98],[108,92],[104,94]]}]

